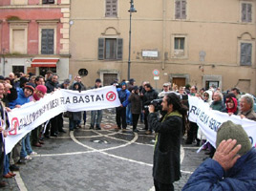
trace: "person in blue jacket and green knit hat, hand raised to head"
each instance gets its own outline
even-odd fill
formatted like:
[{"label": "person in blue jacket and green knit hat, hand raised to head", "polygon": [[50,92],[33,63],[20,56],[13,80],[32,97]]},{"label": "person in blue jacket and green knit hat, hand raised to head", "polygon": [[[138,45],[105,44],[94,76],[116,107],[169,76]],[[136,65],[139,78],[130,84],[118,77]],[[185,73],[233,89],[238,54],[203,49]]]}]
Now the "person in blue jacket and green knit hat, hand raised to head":
[{"label": "person in blue jacket and green knit hat, hand raised to head", "polygon": [[217,150],[191,175],[182,191],[256,190],[256,149],[241,125],[228,120],[217,132]]}]

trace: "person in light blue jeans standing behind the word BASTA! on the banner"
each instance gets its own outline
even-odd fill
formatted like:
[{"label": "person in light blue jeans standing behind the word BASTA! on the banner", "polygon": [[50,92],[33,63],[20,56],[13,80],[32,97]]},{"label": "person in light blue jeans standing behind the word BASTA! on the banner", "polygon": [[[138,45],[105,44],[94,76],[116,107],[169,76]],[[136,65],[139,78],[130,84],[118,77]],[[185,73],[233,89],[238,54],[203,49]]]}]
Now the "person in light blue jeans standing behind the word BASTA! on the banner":
[{"label": "person in light blue jeans standing behind the word BASTA! on the banner", "polygon": [[[101,88],[101,79],[96,79],[96,85],[94,89]],[[96,130],[100,130],[100,123],[102,120],[102,110],[91,111],[91,125],[90,129],[94,129],[96,124]]]}]

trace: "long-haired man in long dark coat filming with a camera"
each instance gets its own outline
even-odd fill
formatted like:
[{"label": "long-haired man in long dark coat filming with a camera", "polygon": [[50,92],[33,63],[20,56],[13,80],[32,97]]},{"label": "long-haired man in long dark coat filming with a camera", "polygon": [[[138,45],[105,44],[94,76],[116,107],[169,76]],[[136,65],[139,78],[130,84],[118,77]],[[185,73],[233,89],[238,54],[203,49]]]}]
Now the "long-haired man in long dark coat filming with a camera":
[{"label": "long-haired man in long dark coat filming with a camera", "polygon": [[181,178],[181,134],[187,121],[187,108],[175,93],[164,96],[161,106],[167,114],[160,121],[154,105],[149,106],[148,118],[157,133],[153,164],[156,191],[174,190],[173,182]]}]

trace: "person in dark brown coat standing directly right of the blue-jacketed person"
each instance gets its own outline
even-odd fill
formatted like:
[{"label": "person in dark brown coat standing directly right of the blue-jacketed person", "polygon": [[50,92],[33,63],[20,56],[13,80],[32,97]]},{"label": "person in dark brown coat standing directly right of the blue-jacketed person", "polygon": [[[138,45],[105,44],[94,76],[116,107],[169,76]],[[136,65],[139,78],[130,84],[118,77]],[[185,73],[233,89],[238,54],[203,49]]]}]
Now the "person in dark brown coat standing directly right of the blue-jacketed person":
[{"label": "person in dark brown coat standing directly right of the blue-jacketed person", "polygon": [[133,115],[133,132],[138,133],[137,129],[139,115],[141,113],[141,98],[139,96],[139,87],[135,86],[132,90],[132,94],[129,96],[128,101],[131,102],[131,112]]}]

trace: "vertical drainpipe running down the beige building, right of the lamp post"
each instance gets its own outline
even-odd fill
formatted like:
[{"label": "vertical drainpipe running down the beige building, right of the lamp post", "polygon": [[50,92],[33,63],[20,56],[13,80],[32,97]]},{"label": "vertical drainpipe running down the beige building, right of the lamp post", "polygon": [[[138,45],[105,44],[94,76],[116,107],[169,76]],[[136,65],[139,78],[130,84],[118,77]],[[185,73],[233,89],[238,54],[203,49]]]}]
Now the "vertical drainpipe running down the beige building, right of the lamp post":
[{"label": "vertical drainpipe running down the beige building, right of the lamp post", "polygon": [[165,41],[166,41],[166,0],[162,0],[162,55],[161,70],[165,69]]}]

